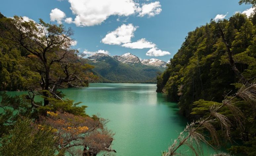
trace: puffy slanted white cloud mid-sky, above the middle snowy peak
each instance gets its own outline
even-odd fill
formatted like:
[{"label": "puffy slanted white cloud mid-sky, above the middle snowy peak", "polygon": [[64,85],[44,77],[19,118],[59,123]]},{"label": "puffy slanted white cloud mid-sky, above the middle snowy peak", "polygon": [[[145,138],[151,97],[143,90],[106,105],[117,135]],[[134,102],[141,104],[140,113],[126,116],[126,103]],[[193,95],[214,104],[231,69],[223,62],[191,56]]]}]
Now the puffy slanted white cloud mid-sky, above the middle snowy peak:
[{"label": "puffy slanted white cloud mid-sky, above the middle snowy peak", "polygon": [[138,27],[133,26],[132,24],[122,24],[116,30],[109,32],[105,38],[101,41],[105,44],[117,44],[131,42],[131,38],[134,37],[134,31]]}]

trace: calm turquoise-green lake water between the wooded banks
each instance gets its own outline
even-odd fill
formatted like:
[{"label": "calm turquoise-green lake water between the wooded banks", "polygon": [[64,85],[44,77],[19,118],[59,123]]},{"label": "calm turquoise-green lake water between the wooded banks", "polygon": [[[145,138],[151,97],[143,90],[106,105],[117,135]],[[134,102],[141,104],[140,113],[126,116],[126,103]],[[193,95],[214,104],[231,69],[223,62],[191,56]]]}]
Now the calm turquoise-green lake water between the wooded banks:
[{"label": "calm turquoise-green lake water between the wooded banks", "polygon": [[[155,90],[155,84],[90,84],[62,91],[88,106],[87,114],[110,120],[107,127],[115,132],[111,148],[117,156],[160,156],[188,121],[178,114],[177,103]],[[204,155],[214,152],[204,149]]]}]

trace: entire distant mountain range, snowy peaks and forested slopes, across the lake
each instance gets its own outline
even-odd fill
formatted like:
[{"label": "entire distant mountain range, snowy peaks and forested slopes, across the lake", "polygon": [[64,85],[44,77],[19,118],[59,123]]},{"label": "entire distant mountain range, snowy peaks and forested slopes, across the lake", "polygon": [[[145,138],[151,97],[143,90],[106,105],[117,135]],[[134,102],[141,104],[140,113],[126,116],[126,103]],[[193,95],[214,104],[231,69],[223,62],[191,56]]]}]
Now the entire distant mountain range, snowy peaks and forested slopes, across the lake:
[{"label": "entire distant mountain range, snowy peaks and forested slopes, across the lake", "polygon": [[156,76],[166,68],[166,62],[158,59],[140,60],[131,53],[109,56],[97,53],[87,58],[94,65],[93,73],[98,82],[109,83],[156,83]]}]

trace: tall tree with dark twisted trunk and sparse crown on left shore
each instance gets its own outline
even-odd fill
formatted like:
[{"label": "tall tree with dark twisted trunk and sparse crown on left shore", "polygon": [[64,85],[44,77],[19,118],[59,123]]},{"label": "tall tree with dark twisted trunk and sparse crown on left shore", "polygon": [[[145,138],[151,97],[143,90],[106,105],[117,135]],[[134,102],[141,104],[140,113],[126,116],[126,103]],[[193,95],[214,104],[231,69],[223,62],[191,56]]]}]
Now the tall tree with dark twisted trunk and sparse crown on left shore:
[{"label": "tall tree with dark twisted trunk and sparse crown on left shore", "polygon": [[[72,50],[71,28],[63,25],[24,21],[22,17],[2,18],[5,27],[1,36],[30,53],[26,59],[32,71],[39,73],[41,80],[33,84],[31,90],[38,90],[44,96],[44,105],[52,94],[61,98],[59,87],[79,87],[88,85],[88,74],[92,68],[81,59],[78,51]],[[39,86],[38,86],[39,85]]]}]

